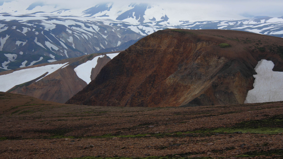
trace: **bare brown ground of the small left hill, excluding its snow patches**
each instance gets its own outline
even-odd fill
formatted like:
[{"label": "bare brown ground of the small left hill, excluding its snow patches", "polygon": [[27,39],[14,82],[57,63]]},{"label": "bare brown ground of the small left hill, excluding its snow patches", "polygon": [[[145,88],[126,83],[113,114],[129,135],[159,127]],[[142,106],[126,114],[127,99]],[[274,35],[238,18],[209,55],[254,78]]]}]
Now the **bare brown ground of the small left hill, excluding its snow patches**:
[{"label": "bare brown ground of the small left hill, excluding its snow patches", "polygon": [[[90,54],[81,57],[60,60],[48,64],[39,64],[30,67],[23,67],[11,71],[1,72],[0,75],[9,74],[12,73],[13,71],[23,70],[26,68],[40,67],[49,64],[68,63],[66,67],[60,68],[57,71],[53,72],[52,74],[45,76],[48,73],[46,72],[44,75],[42,75],[39,78],[36,78],[32,81],[20,85],[16,85],[15,87],[7,91],[11,93],[33,96],[38,99],[65,103],[68,99],[70,99],[73,95],[78,93],[87,85],[85,81],[83,81],[77,76],[76,72],[74,71],[74,68],[100,55],[104,55],[104,54]],[[105,64],[107,64],[107,62],[109,62],[110,60],[111,59],[107,56],[104,56],[103,58],[98,58],[97,65],[95,68],[92,69],[91,72],[91,80],[93,80],[97,76],[101,68]]]}]

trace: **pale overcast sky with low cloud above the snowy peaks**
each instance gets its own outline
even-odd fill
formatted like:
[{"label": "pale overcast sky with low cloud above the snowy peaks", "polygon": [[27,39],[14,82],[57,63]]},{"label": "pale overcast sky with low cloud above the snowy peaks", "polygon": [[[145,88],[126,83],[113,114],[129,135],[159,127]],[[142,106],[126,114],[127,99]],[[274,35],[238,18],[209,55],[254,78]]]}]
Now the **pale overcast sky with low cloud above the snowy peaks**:
[{"label": "pale overcast sky with low cloud above the snowy peaks", "polygon": [[[14,0],[0,0],[3,1],[14,1]],[[92,7],[98,3],[105,3],[104,0],[16,0],[22,1],[27,4],[33,2],[44,2],[49,5],[57,5],[58,8],[64,9],[78,9]],[[282,0],[110,0],[108,2],[114,2],[115,4],[128,5],[132,2],[137,3],[149,3],[152,5],[161,5],[171,7],[172,9],[192,10],[197,12],[196,14],[201,15],[202,13],[207,14],[209,12],[219,12],[221,14],[231,15],[243,15],[250,14],[254,16],[271,16],[281,17],[283,16],[283,1]],[[220,15],[221,15],[220,14]],[[205,16],[205,15],[201,15]],[[231,17],[233,18],[233,17]]]}]

